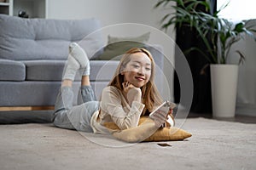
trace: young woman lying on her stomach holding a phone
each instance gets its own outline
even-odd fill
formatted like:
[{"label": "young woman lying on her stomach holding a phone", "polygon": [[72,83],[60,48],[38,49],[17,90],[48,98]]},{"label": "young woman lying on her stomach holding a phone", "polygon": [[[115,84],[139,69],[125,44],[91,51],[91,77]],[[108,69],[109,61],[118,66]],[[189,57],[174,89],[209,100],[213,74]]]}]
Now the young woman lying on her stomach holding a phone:
[{"label": "young woman lying on her stomach holding a phone", "polygon": [[[172,115],[172,110],[168,113],[158,111],[150,117],[153,121],[138,126],[140,116],[148,116],[162,103],[154,85],[154,59],[146,49],[131,48],[124,54],[113,80],[102,90],[101,101],[96,101],[90,87],[90,63],[83,48],[73,42],[69,51],[55,103],[53,122],[56,127],[90,133],[113,133],[118,139],[137,132],[136,136],[132,136],[132,141],[138,141],[154,133],[166,121],[166,116]],[[79,93],[83,104],[73,106],[72,84],[79,70],[83,72]],[[108,129],[104,126],[106,122],[114,122],[120,130]]]}]

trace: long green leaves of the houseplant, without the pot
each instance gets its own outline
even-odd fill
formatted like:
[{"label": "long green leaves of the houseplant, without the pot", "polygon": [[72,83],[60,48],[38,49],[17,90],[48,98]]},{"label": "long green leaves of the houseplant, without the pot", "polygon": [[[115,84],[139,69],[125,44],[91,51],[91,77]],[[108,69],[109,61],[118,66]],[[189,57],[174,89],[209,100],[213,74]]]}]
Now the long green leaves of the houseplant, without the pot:
[{"label": "long green leaves of the houseplant, without the pot", "polygon": [[[166,14],[162,18],[161,27],[168,29],[174,25],[176,29],[179,29],[181,26],[189,26],[197,31],[198,36],[201,37],[207,47],[207,50],[191,47],[185,51],[186,53],[191,50],[198,50],[212,64],[227,64],[232,45],[245,35],[255,38],[253,26],[248,25],[250,20],[241,21],[234,26],[229,20],[218,16],[227,5],[225,4],[213,14],[209,14],[209,11],[213,11],[209,0],[160,0],[154,8],[175,9],[176,12]],[[198,7],[203,10],[197,10]],[[236,52],[241,57],[239,59],[239,63],[241,63],[245,56],[239,50]]]}]

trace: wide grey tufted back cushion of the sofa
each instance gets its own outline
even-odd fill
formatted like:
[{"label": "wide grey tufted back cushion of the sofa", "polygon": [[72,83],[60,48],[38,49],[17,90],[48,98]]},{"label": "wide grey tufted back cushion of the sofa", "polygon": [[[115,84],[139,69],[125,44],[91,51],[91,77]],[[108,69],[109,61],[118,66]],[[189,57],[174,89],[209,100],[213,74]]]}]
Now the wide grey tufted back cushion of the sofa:
[{"label": "wide grey tufted back cushion of the sofa", "polygon": [[95,19],[23,19],[0,14],[0,59],[67,59],[70,42],[82,44],[90,57],[102,48],[102,36],[96,31],[100,28]]}]

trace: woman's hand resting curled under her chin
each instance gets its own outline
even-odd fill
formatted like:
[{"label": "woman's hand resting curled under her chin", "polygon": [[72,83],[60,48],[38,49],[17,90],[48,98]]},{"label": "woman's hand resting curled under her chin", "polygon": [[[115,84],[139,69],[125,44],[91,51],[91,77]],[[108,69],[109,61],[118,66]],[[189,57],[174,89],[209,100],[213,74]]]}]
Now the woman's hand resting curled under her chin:
[{"label": "woman's hand resting curled under her chin", "polygon": [[130,82],[123,82],[123,89],[126,94],[126,98],[128,100],[129,105],[131,105],[132,101],[141,102],[142,100],[142,91],[141,88],[137,88],[133,86]]}]

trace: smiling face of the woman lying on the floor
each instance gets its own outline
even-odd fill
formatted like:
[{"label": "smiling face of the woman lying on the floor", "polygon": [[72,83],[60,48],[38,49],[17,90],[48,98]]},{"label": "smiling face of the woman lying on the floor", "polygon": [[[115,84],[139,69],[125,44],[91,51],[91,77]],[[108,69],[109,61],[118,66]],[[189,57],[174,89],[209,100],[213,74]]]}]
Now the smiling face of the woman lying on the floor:
[{"label": "smiling face of the woman lying on the floor", "polygon": [[151,60],[147,54],[136,53],[130,55],[131,60],[125,66],[122,74],[125,82],[130,82],[137,88],[143,87],[151,76]]}]

